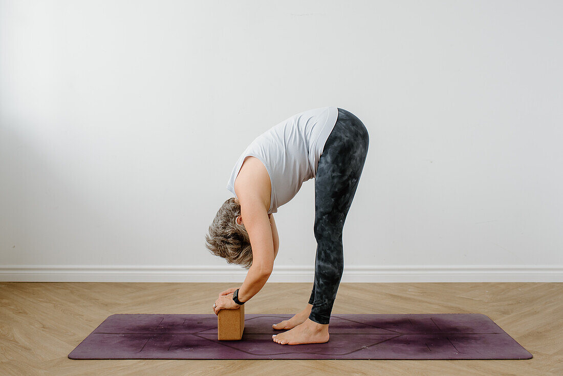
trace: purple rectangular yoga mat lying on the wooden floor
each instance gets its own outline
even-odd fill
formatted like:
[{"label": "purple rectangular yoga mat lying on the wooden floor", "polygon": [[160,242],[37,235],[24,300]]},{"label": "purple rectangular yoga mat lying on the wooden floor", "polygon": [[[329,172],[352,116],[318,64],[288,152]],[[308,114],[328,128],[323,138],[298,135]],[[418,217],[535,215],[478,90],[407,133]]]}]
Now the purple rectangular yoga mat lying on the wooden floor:
[{"label": "purple rectangular yoga mat lying on the wooden floor", "polygon": [[111,315],[70,359],[531,359],[480,313],[330,317],[325,343],[282,345],[272,324],[293,315],[247,314],[242,340],[217,340],[217,316]]}]

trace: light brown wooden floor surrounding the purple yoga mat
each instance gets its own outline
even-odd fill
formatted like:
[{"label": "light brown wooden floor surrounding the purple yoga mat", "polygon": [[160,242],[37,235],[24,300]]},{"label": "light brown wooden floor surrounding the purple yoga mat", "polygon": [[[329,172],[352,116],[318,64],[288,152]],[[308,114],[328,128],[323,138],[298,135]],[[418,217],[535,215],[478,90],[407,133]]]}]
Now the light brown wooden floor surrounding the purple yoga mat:
[{"label": "light brown wooden floor surrounding the purple yoga mat", "polygon": [[[333,313],[484,313],[530,360],[70,360],[114,313],[213,313],[224,283],[0,283],[0,375],[563,375],[563,283],[342,283]],[[267,283],[246,313],[294,313],[311,284]],[[330,329],[329,329],[330,331]]]}]

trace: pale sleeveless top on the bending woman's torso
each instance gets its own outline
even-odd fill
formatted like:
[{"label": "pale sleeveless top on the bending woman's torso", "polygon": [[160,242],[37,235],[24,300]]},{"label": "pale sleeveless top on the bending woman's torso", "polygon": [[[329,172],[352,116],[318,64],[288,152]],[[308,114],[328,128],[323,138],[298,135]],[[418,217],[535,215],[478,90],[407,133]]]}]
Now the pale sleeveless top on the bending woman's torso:
[{"label": "pale sleeveless top on the bending woman's torso", "polygon": [[263,132],[240,154],[227,189],[236,197],[235,179],[240,167],[246,157],[256,157],[270,175],[268,214],[277,213],[279,206],[297,194],[303,182],[316,176],[320,154],[337,119],[337,107],[316,108],[295,114]]}]

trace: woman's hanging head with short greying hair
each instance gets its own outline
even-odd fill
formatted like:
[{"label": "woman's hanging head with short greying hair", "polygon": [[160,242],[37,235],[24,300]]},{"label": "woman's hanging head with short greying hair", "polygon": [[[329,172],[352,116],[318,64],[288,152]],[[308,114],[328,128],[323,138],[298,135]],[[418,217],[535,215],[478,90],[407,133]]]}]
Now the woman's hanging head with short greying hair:
[{"label": "woman's hanging head with short greying hair", "polygon": [[209,226],[205,247],[212,254],[227,260],[227,263],[248,269],[252,265],[252,247],[242,220],[238,221],[240,223],[236,220],[239,216],[240,204],[231,197],[221,205]]}]

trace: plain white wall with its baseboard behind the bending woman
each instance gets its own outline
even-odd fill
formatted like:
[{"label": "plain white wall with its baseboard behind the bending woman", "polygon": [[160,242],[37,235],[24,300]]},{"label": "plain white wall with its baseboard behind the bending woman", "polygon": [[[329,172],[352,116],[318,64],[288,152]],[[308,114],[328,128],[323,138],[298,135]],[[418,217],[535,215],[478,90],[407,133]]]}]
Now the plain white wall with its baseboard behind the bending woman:
[{"label": "plain white wall with its baseboard behind the bending woman", "polygon": [[[370,149],[343,281],[563,281],[563,3],[0,1],[0,278],[242,281],[236,158],[334,105]],[[312,281],[314,180],[271,281]]]}]

